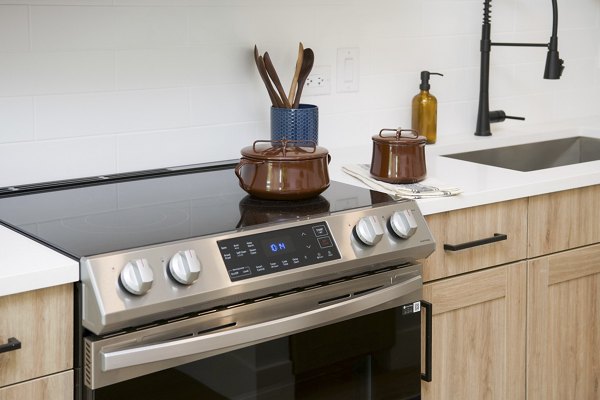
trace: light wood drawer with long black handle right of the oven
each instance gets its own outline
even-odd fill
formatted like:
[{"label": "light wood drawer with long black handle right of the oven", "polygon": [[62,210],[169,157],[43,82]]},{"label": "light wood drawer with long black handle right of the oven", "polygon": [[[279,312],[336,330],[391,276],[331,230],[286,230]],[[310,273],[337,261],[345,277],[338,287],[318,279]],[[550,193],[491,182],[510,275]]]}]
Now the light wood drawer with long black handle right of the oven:
[{"label": "light wood drawer with long black handle right of the oven", "polygon": [[526,258],[527,199],[428,215],[426,220],[437,246],[423,263],[425,281]]}]

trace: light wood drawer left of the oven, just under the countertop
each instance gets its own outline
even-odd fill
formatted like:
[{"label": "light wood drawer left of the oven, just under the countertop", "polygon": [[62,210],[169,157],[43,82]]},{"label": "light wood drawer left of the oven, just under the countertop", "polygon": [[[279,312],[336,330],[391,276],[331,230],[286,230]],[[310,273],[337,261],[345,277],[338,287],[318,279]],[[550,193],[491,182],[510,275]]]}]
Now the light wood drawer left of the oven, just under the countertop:
[{"label": "light wood drawer left of the oven, just under the countertop", "polygon": [[[73,368],[73,285],[0,297],[0,387]],[[26,398],[26,397],[23,397]]]}]

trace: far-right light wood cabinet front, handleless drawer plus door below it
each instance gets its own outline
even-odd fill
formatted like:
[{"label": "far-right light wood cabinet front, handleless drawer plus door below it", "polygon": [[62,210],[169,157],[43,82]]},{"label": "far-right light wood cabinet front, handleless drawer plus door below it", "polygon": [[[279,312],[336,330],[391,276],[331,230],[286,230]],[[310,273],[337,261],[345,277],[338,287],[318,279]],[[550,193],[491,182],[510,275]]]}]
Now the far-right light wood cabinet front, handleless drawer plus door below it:
[{"label": "far-right light wood cabinet front, handleless drawer plus door below it", "polygon": [[530,199],[528,400],[600,399],[599,204],[599,185]]}]

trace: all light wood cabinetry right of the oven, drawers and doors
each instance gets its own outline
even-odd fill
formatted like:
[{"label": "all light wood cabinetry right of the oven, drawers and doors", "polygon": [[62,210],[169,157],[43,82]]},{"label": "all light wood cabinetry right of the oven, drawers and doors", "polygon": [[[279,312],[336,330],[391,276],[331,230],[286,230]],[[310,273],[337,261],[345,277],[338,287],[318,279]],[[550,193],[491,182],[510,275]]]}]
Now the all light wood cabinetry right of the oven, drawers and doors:
[{"label": "all light wood cabinetry right of the oven, drawers and doors", "polygon": [[[596,185],[427,216],[424,399],[600,399],[599,205]],[[443,248],[490,233],[506,243]]]}]

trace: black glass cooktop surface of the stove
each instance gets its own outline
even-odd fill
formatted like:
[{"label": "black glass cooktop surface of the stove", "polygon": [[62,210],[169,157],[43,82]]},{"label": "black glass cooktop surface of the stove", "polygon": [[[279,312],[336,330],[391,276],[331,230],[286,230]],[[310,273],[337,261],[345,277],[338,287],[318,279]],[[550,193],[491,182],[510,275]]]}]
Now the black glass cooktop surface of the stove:
[{"label": "black glass cooktop surface of the stove", "polygon": [[0,188],[0,221],[78,259],[389,201],[339,182],[309,200],[259,200],[224,165]]}]

